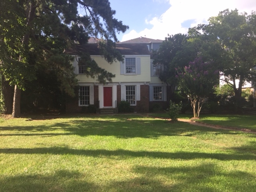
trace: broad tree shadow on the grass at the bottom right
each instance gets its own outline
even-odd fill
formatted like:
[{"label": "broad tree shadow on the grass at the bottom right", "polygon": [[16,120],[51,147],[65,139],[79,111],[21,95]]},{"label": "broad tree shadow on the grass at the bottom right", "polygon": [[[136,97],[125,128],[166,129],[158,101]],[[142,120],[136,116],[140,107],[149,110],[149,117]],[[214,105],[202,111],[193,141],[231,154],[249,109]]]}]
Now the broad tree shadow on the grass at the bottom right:
[{"label": "broad tree shadow on the grass at the bottom right", "polygon": [[[160,183],[160,190],[152,188],[150,191],[236,192],[254,191],[256,188],[255,175],[242,171],[224,172],[215,164],[165,168],[134,166],[133,171],[143,175],[133,181],[137,185],[155,186],[154,183]],[[169,183],[169,187],[163,187],[164,183]]]}]

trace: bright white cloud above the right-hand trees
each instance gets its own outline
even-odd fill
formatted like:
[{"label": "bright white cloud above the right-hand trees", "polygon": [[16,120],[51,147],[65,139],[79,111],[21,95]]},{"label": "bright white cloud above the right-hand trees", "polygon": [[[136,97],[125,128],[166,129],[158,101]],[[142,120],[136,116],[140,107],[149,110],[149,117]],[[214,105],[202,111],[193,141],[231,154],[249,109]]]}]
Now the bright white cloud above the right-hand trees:
[{"label": "bright white cloud above the right-hand trees", "polygon": [[[160,17],[154,17],[151,20],[145,20],[145,23],[152,24],[152,28],[145,28],[137,32],[136,30],[124,34],[121,41],[126,41],[140,36],[153,39],[164,40],[167,34],[186,33],[188,28],[182,27],[182,23],[187,20],[194,20],[190,27],[200,23],[206,23],[208,18],[217,16],[222,10],[238,9],[239,12],[250,14],[252,10],[256,11],[255,0],[169,0],[170,8]],[[147,16],[145,16],[146,18]]]}]

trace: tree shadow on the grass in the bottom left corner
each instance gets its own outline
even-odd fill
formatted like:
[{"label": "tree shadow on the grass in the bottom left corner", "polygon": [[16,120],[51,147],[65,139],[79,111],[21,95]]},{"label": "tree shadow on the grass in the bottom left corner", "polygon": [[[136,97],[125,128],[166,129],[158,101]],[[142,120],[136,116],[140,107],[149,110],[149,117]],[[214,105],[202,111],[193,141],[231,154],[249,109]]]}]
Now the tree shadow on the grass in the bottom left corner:
[{"label": "tree shadow on the grass in the bottom left corner", "polygon": [[1,192],[84,192],[99,190],[99,186],[86,182],[80,172],[57,170],[54,174],[23,174],[17,176],[0,176]]}]

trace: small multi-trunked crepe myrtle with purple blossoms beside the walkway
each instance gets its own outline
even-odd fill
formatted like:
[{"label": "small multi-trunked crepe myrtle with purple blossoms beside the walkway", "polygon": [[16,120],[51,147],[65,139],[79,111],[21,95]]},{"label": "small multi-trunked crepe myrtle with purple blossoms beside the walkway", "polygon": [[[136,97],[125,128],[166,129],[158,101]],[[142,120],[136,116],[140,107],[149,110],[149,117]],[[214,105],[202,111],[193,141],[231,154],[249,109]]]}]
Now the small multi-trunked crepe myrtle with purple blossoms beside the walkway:
[{"label": "small multi-trunked crepe myrtle with purple blossoms beside the walkway", "polygon": [[212,62],[203,62],[202,58],[196,58],[176,71],[178,88],[189,96],[194,118],[199,118],[205,99],[218,84],[219,70],[214,69]]}]

